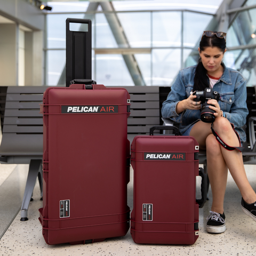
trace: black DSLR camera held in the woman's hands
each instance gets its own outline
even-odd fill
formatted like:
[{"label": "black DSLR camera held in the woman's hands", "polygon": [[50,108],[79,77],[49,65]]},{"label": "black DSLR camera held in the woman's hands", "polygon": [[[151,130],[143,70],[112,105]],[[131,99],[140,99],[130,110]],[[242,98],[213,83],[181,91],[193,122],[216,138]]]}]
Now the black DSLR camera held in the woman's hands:
[{"label": "black DSLR camera held in the woman's hands", "polygon": [[213,91],[211,88],[205,88],[204,91],[195,91],[193,92],[193,95],[196,95],[196,98],[194,101],[201,101],[202,102],[202,108],[201,108],[201,120],[205,123],[212,123],[215,120],[215,116],[213,113],[215,113],[214,110],[210,109],[210,105],[207,103],[207,100],[220,100],[220,94],[217,91]]}]

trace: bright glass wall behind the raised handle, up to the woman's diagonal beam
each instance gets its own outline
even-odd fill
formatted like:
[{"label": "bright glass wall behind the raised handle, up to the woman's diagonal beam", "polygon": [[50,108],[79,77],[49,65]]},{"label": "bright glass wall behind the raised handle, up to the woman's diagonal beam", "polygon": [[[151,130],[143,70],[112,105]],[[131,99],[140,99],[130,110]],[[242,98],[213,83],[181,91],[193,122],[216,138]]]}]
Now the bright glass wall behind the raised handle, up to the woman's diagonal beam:
[{"label": "bright glass wall behind the raised handle, up to the woman's diagonal beam", "polygon": [[[84,12],[88,2],[74,2],[76,7],[70,7],[70,3],[51,2],[54,13],[47,13],[46,17],[46,85],[65,84],[67,18],[92,20],[92,79],[100,84],[132,86],[142,85],[134,81],[143,81],[148,86],[170,86],[181,68],[195,63],[193,58],[187,57],[212,19],[210,12],[158,8],[153,11],[149,7],[148,11],[146,7],[141,11],[122,11],[125,4],[132,7],[132,1],[122,2],[113,2],[113,6],[121,11],[103,12],[99,5],[97,11],[89,14]],[[133,4],[139,7],[139,3],[146,2],[135,1]],[[215,7],[210,5],[211,1],[206,2],[209,3],[201,4],[202,9],[207,7],[215,12],[221,0]],[[163,3],[169,4],[168,1]],[[190,7],[196,8],[194,5]],[[79,30],[77,26],[75,29]],[[97,52],[99,50],[101,52]],[[122,54],[130,54],[130,61]],[[134,76],[141,76],[141,79],[132,79]]]}]

